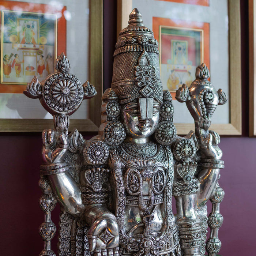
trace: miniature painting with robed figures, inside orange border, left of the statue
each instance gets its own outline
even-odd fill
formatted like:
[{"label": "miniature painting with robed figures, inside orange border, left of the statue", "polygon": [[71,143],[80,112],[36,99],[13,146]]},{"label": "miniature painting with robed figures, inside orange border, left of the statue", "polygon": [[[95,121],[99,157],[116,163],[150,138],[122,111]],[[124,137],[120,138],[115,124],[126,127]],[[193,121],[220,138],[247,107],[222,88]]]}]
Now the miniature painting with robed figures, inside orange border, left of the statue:
[{"label": "miniature painting with robed figures, inside orange border, left of the statue", "polygon": [[4,10],[1,17],[1,83],[26,84],[52,73],[56,15]]}]

